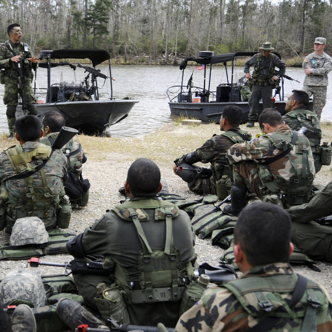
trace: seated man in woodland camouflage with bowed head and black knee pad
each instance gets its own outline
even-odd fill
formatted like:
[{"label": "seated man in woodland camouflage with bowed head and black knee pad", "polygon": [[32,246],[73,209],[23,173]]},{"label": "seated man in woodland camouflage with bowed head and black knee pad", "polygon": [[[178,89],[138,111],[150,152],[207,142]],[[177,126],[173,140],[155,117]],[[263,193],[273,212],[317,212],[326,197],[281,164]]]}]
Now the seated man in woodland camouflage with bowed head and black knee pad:
[{"label": "seated man in woodland camouflage with bowed head and black knee pad", "polygon": [[234,144],[226,158],[233,166],[234,183],[228,213],[238,214],[246,205],[248,190],[259,199],[276,194],[285,208],[308,202],[315,176],[308,139],[284,124],[275,109],[265,109],[258,119],[264,135]]}]

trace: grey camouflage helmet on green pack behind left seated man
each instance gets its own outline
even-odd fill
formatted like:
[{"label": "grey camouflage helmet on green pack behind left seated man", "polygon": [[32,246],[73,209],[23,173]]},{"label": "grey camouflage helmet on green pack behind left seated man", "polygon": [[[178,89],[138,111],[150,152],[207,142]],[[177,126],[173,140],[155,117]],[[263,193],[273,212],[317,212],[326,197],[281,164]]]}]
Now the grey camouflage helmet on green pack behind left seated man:
[{"label": "grey camouflage helmet on green pack behind left seated man", "polygon": [[47,242],[49,242],[49,236],[41,219],[38,217],[16,219],[9,240],[11,246],[43,244]]}]

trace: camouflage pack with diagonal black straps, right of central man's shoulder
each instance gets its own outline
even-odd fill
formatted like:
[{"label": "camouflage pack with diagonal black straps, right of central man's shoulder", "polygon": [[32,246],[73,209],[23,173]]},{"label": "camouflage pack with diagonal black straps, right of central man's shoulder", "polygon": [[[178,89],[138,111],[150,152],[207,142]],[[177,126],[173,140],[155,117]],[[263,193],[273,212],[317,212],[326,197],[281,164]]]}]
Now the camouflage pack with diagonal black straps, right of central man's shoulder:
[{"label": "camouflage pack with diagonal black straps, right of central man's shoulder", "polygon": [[213,204],[197,207],[195,216],[191,220],[195,234],[199,238],[205,239],[210,236],[215,229],[228,227],[229,222],[236,221],[236,216],[229,216],[222,212],[220,207]]}]

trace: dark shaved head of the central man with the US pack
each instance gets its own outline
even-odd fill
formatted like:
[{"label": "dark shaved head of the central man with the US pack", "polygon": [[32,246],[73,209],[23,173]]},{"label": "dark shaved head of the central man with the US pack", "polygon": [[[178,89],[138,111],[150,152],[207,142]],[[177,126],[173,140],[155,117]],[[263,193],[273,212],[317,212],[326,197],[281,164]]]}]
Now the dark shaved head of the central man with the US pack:
[{"label": "dark shaved head of the central man with the US pack", "polygon": [[156,196],[160,184],[159,167],[150,159],[138,158],[128,169],[127,182],[134,197]]}]

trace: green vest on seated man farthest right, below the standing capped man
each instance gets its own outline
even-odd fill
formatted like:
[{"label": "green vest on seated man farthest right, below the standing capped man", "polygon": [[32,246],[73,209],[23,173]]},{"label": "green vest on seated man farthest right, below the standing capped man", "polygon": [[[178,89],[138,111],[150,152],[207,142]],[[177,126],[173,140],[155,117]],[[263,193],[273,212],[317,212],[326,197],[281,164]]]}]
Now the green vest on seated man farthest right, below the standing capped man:
[{"label": "green vest on seated man farthest right, below the standing capped man", "polygon": [[[322,138],[322,131],[317,128],[317,122],[319,121],[317,115],[304,109],[301,109],[301,113],[293,110],[287,113],[287,115],[291,118],[296,118],[300,123],[300,127],[306,127],[308,129],[305,137],[308,138],[310,142],[312,153],[321,154],[320,140]],[[311,127],[308,125],[309,123],[311,123]],[[299,128],[293,129],[298,130]]]}]

